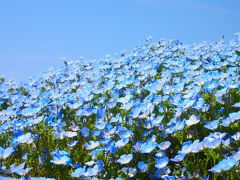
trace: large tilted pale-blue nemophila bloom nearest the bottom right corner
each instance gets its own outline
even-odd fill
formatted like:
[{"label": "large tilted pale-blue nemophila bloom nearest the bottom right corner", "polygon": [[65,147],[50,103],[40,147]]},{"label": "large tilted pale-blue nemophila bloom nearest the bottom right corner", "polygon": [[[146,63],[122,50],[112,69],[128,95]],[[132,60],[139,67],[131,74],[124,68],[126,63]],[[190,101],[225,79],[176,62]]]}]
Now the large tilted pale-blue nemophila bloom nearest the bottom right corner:
[{"label": "large tilted pale-blue nemophila bloom nearest the bottom right corner", "polygon": [[233,166],[235,166],[238,162],[233,158],[229,157],[228,159],[224,159],[220,161],[217,165],[209,169],[209,171],[212,171],[214,173],[219,173],[221,171],[227,171],[231,169]]}]

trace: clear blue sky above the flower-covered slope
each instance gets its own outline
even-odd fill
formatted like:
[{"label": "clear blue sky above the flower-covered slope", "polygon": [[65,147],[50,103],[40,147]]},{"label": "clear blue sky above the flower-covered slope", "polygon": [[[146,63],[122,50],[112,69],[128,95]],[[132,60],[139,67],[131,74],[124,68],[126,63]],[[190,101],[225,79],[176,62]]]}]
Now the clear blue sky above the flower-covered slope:
[{"label": "clear blue sky above the flower-covered slope", "polygon": [[62,64],[131,50],[148,36],[230,39],[240,0],[2,0],[0,74],[24,80]]}]

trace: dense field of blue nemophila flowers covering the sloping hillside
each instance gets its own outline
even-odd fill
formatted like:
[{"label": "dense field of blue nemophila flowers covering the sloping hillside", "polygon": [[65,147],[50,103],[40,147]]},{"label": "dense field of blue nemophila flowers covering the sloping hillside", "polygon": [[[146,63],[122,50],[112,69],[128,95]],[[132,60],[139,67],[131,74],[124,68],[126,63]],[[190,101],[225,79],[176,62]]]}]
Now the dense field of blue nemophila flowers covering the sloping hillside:
[{"label": "dense field of blue nemophila flowers covering the sloping hillside", "polygon": [[0,79],[0,178],[236,179],[239,128],[240,34],[147,40],[29,82]]}]

